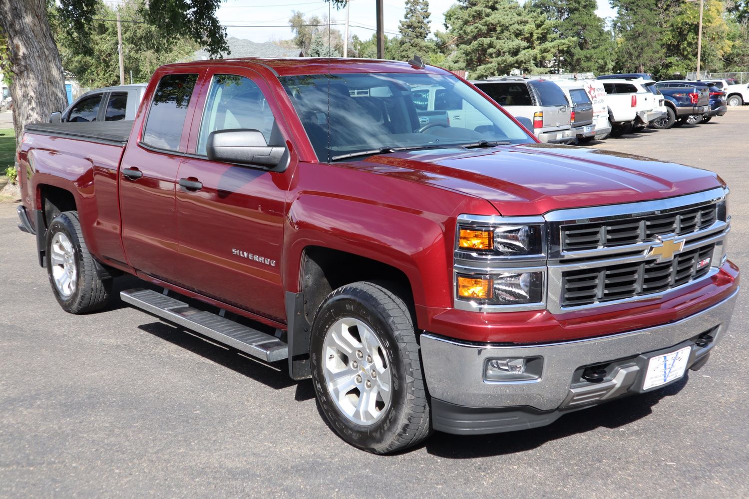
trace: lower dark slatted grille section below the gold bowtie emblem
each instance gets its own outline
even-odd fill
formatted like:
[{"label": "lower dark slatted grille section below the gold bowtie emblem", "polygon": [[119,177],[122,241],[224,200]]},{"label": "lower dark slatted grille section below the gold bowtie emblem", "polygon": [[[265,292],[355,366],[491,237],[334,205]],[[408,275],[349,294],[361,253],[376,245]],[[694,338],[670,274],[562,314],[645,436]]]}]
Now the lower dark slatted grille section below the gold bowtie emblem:
[{"label": "lower dark slatted grille section below the gold bowtie emblem", "polygon": [[646,297],[682,286],[709,272],[712,262],[697,265],[712,257],[714,248],[709,244],[684,251],[669,262],[651,259],[562,272],[562,306]]}]

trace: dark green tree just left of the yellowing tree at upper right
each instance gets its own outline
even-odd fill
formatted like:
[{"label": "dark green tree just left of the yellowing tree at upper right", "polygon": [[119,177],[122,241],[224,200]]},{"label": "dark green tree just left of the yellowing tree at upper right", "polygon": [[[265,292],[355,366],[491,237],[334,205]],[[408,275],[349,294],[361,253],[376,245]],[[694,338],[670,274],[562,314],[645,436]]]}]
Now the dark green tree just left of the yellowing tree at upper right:
[{"label": "dark green tree just left of the yellowing tree at upper right", "polygon": [[611,0],[616,9],[616,66],[622,73],[649,73],[664,64],[658,0]]}]

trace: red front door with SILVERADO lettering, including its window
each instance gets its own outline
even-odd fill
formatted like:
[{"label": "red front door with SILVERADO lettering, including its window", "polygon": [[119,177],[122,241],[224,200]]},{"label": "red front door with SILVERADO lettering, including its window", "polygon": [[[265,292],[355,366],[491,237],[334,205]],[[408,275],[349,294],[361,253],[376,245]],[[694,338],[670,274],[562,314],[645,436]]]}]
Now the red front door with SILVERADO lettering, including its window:
[{"label": "red front door with SILVERADO lettering, including its window", "polygon": [[198,102],[204,111],[192,125],[194,154],[178,174],[178,264],[189,289],[285,321],[282,236],[294,156],[282,173],[206,156],[208,135],[222,129],[259,130],[268,144],[285,145],[264,80],[249,69],[236,71],[209,73]]}]

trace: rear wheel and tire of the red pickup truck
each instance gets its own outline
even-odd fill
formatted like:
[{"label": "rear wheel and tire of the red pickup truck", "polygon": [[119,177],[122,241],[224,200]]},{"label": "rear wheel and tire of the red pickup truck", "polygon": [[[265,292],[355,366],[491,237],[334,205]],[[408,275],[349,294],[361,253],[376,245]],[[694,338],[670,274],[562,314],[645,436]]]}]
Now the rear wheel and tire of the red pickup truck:
[{"label": "rear wheel and tire of the red pickup truck", "polygon": [[46,269],[63,310],[88,313],[109,303],[112,279],[102,279],[83,240],[78,212],[57,215],[46,233]]}]

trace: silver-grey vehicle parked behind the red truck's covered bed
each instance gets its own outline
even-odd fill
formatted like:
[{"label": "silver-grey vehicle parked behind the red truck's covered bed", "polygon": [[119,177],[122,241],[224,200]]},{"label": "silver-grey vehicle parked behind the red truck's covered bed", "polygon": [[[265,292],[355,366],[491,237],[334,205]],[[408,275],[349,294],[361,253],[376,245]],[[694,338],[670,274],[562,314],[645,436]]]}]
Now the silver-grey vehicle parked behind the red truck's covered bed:
[{"label": "silver-grey vehicle parked behind the red truck's covered bed", "polygon": [[133,120],[145,94],[145,88],[145,83],[136,83],[88,91],[64,111],[49,114],[49,122]]}]

